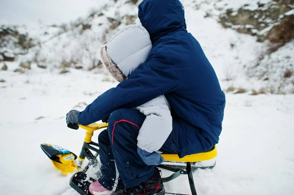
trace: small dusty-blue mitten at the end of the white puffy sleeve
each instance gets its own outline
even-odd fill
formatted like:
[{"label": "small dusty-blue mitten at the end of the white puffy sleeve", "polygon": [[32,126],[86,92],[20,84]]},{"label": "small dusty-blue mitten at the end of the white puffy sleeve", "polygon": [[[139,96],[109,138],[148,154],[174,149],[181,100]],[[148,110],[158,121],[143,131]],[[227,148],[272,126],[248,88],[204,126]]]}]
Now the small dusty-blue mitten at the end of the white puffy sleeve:
[{"label": "small dusty-blue mitten at the end of the white puffy sleeve", "polygon": [[157,152],[147,152],[145,150],[142,150],[141,148],[137,147],[137,152],[141,156],[142,160],[147,165],[160,165],[164,162],[163,157],[160,155],[160,153]]}]

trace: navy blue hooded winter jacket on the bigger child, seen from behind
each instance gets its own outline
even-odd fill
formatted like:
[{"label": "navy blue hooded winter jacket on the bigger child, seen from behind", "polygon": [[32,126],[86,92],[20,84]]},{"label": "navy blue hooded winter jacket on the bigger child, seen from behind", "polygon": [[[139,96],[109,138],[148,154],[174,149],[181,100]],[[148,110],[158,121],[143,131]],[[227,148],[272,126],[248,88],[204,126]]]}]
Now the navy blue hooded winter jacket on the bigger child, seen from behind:
[{"label": "navy blue hooded winter jacket on the bigger child, seen from behind", "polygon": [[[164,94],[172,118],[193,127],[187,137],[195,137],[193,131],[203,132],[210,143],[203,148],[209,149],[219,141],[225,95],[200,44],[186,30],[183,5],[179,0],[144,0],[138,16],[153,44],[146,63],[98,96],[78,122],[88,125],[119,108],[134,108]],[[184,151],[181,156],[190,153]]]}]

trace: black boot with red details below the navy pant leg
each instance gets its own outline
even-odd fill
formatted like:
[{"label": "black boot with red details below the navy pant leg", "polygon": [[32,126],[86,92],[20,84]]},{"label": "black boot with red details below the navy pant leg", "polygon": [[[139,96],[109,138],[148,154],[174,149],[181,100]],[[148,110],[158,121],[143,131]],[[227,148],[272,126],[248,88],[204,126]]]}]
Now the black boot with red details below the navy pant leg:
[{"label": "black boot with red details below the navy pant leg", "polygon": [[126,188],[122,195],[164,195],[161,171],[155,167],[153,175],[145,182],[133,188]]}]

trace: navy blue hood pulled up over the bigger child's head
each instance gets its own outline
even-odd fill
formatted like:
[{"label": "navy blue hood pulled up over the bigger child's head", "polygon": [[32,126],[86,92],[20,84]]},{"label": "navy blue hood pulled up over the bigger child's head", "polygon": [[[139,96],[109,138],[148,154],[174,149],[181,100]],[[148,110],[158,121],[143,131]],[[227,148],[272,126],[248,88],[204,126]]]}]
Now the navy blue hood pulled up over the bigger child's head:
[{"label": "navy blue hood pulled up over the bigger child's head", "polygon": [[138,8],[138,17],[152,43],[161,36],[187,28],[184,6],[179,0],[143,0]]}]

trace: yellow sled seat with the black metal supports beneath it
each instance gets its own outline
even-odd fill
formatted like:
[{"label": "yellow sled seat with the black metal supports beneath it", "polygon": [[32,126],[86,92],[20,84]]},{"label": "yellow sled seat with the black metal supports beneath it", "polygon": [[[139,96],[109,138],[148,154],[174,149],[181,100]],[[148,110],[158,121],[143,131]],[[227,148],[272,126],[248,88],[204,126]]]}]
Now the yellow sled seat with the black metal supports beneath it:
[{"label": "yellow sled seat with the black metal supports beneath it", "polygon": [[[214,146],[208,152],[186,155],[183,158],[179,158],[179,156],[177,154],[161,154],[161,155],[165,161],[186,163],[186,166],[184,167],[184,169],[179,169],[177,166],[170,166],[170,165],[165,165],[165,164],[158,165],[157,167],[159,167],[161,169],[165,169],[165,170],[174,172],[172,175],[162,178],[162,181],[168,182],[168,181],[171,181],[172,179],[177,178],[181,174],[187,174],[192,195],[197,195],[196,189],[195,189],[195,184],[194,184],[194,179],[193,179],[193,172],[192,172],[191,163],[196,163],[196,162],[205,161],[205,160],[211,160],[218,155],[218,151],[217,151],[217,147]],[[197,168],[199,168],[199,169],[212,169],[212,168],[214,168],[214,166],[215,166],[215,164],[210,167],[196,167],[196,169]],[[169,194],[169,193],[167,193],[167,194]],[[178,195],[180,195],[180,194],[178,194]]]}]

